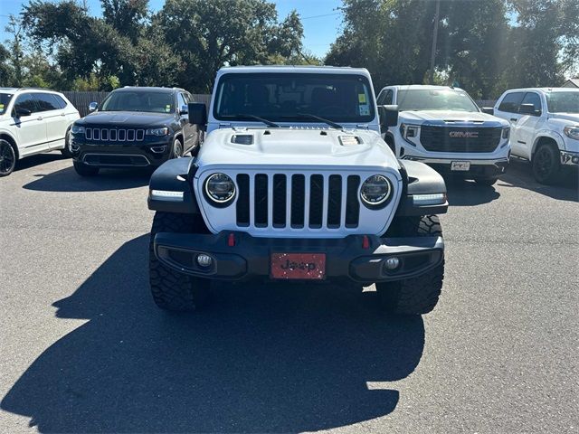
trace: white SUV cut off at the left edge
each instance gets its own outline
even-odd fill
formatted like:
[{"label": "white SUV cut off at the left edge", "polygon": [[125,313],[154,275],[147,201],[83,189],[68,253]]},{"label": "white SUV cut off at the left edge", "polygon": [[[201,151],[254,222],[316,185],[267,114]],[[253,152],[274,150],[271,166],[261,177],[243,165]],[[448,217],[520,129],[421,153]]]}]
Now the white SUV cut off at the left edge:
[{"label": "white SUV cut off at the left edge", "polygon": [[24,156],[61,150],[79,111],[62,93],[0,88],[0,176],[10,175]]}]

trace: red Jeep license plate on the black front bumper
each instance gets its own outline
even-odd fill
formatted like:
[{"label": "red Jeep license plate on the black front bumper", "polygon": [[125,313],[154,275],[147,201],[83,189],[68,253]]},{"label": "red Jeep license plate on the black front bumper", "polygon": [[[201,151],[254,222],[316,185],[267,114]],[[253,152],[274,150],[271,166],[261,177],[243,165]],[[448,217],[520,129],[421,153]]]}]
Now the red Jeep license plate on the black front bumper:
[{"label": "red Jeep license plate on the black front bumper", "polygon": [[325,253],[272,253],[271,278],[323,279]]}]

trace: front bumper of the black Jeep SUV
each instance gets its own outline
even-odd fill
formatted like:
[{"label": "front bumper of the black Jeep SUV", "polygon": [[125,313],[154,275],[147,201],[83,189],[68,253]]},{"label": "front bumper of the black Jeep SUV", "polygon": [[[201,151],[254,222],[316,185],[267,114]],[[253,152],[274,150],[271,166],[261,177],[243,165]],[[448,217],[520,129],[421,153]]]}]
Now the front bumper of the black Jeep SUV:
[{"label": "front bumper of the black Jeep SUV", "polygon": [[96,167],[145,167],[162,165],[171,154],[172,137],[148,138],[138,143],[87,143],[73,137],[72,158]]}]

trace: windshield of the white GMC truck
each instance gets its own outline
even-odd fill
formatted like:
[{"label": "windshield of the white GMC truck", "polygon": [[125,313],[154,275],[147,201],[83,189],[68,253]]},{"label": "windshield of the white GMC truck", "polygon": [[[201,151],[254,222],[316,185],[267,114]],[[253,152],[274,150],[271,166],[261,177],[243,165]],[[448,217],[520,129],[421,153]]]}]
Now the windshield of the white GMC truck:
[{"label": "windshield of the white GMC truck", "polygon": [[467,92],[451,89],[398,90],[398,109],[403,110],[455,110],[479,111]]}]

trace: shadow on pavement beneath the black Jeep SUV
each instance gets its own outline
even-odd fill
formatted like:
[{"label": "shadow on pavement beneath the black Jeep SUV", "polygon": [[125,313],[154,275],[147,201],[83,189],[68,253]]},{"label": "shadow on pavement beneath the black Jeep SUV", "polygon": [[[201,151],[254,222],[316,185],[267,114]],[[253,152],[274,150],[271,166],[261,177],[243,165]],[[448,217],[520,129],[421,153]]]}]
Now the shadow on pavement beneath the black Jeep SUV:
[{"label": "shadow on pavement beneath the black Jeep SUV", "polygon": [[99,175],[82,177],[71,166],[45,175],[34,176],[38,179],[25,184],[23,188],[40,192],[104,192],[147,185],[151,178],[151,170],[102,169]]}]

